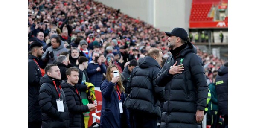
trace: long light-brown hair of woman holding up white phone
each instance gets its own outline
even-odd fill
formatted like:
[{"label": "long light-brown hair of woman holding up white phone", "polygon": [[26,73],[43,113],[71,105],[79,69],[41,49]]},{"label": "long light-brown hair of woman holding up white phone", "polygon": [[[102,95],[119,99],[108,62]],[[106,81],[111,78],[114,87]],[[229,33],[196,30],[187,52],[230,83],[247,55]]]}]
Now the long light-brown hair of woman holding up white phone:
[{"label": "long light-brown hair of woman holding up white phone", "polygon": [[[106,73],[106,79],[107,79],[108,81],[111,81],[111,80],[112,80],[112,78],[110,77],[110,72],[111,72],[111,68],[112,68],[112,67],[116,67],[116,69],[118,70],[117,66],[114,65],[114,64],[111,64],[111,65],[108,66],[108,68],[107,68],[107,73]],[[125,88],[124,88],[124,86],[123,86],[123,84],[122,84],[122,74],[120,73],[119,70],[118,70],[118,73],[119,73],[120,80],[117,82],[117,84],[118,84],[118,86],[119,86],[120,92],[122,93],[122,92],[125,92]],[[117,90],[116,86],[114,86],[114,89]]]}]

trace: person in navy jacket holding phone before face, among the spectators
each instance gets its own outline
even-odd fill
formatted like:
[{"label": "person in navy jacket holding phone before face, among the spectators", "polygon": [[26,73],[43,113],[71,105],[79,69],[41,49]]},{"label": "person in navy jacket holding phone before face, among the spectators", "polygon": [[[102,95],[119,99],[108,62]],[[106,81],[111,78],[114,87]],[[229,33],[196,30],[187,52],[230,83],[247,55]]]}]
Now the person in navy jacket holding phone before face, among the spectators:
[{"label": "person in navy jacket holding phone before face, among the spectators", "polygon": [[93,61],[90,61],[87,67],[87,74],[90,79],[90,82],[95,87],[100,87],[100,83],[103,79],[103,73],[106,73],[106,66],[105,64],[99,59],[99,53],[94,52]]}]

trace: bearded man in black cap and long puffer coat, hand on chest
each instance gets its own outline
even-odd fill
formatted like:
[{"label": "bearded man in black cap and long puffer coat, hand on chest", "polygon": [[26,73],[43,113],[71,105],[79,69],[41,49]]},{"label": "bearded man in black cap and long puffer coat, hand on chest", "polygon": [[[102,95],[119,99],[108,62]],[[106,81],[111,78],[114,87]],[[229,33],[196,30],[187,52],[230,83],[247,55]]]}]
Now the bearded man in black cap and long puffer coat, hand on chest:
[{"label": "bearded man in black cap and long puffer coat, hand on chest", "polygon": [[203,61],[185,29],[165,33],[172,55],[156,78],[166,92],[160,128],[200,128],[209,91]]}]

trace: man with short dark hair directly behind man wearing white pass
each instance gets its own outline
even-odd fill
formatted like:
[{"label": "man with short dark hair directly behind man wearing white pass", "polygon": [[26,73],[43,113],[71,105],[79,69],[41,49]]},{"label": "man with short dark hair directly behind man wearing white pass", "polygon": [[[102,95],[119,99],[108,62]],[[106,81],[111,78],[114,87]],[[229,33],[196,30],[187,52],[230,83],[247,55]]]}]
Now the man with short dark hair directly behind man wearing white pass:
[{"label": "man with short dark hair directly behind man wearing white pass", "polygon": [[58,56],[58,58],[56,59],[55,64],[57,64],[57,66],[60,69],[61,72],[61,80],[67,80],[67,76],[66,76],[66,70],[67,70],[67,65],[68,65],[68,59],[67,56],[65,55],[60,55]]}]

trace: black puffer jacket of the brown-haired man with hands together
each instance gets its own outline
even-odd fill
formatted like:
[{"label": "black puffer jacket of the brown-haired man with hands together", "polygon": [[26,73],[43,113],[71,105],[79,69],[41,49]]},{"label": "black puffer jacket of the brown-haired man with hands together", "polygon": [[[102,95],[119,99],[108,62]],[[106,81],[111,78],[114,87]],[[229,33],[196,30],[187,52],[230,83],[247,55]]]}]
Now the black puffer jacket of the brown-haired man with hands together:
[{"label": "black puffer jacket of the brown-haired man with hands together", "polygon": [[[67,83],[66,80],[61,81],[61,88],[64,90],[67,107],[70,112],[70,127],[84,128],[83,113],[89,111],[89,109],[87,105],[82,104],[79,89]],[[76,89],[79,94],[76,93]]]}]

